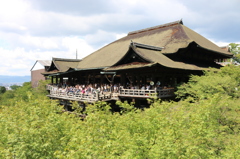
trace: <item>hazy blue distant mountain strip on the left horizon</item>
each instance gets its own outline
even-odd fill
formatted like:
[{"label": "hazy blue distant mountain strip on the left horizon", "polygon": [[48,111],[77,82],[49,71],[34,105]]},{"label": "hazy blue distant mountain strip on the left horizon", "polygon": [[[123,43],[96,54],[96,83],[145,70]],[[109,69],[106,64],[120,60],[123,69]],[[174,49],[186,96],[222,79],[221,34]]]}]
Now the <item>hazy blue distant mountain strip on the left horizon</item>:
[{"label": "hazy blue distant mountain strip on the left horizon", "polygon": [[4,76],[0,75],[0,83],[24,83],[30,82],[31,76]]}]

